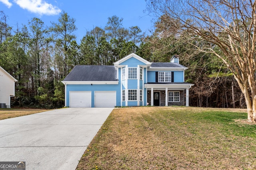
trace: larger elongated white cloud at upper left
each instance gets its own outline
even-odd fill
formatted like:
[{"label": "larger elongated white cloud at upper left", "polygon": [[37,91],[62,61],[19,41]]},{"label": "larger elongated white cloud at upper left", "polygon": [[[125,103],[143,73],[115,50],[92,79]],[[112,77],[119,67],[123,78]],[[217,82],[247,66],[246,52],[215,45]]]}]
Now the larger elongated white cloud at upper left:
[{"label": "larger elongated white cloud at upper left", "polygon": [[40,15],[56,15],[60,9],[44,0],[14,0],[21,8]]}]

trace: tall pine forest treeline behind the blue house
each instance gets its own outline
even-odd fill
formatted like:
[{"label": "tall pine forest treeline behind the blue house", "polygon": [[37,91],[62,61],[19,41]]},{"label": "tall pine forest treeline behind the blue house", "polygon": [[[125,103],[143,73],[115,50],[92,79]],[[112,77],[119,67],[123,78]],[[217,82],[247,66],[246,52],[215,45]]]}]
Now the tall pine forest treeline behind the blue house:
[{"label": "tall pine forest treeline behind the blue house", "polygon": [[61,81],[75,65],[112,65],[130,53],[150,62],[169,62],[179,55],[180,64],[188,67],[186,82],[194,84],[190,106],[246,107],[237,82],[220,59],[189,50],[193,42],[179,38],[189,35],[180,34],[178,21],[166,15],[154,23],[150,35],[138,26],[125,28],[123,18],[112,16],[104,28],[86,31],[81,40],[74,34],[76,20],[64,11],[51,25],[32,18],[14,28],[3,11],[0,17],[0,66],[18,80],[12,107],[63,107]]}]

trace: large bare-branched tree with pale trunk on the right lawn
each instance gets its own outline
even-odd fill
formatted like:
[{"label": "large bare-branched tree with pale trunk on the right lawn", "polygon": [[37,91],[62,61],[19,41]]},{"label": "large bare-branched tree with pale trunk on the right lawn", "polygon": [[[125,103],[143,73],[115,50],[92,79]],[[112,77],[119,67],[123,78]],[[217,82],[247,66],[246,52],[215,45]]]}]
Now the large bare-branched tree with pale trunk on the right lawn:
[{"label": "large bare-branched tree with pale trunk on the right lawn", "polygon": [[147,3],[148,11],[158,17],[168,15],[180,21],[180,35],[189,35],[188,42],[200,44],[191,44],[191,50],[213,53],[226,64],[244,94],[248,120],[256,122],[256,2],[148,0]]}]

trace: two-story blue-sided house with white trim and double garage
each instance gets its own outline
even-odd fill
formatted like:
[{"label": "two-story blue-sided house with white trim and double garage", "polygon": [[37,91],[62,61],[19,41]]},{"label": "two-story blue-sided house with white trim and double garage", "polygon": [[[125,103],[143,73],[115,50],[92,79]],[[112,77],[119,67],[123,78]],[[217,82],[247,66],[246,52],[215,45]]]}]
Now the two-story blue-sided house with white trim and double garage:
[{"label": "two-story blue-sided house with white trim and double garage", "polygon": [[189,106],[178,56],[150,63],[132,53],[113,66],[78,65],[62,81],[67,107]]}]

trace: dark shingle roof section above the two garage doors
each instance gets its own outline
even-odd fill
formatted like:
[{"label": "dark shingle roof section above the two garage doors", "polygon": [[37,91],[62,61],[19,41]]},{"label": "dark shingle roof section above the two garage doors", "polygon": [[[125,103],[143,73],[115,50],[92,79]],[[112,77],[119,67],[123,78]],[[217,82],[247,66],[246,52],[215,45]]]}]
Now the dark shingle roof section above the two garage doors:
[{"label": "dark shingle roof section above the two garage doors", "polygon": [[114,66],[77,65],[63,81],[117,81]]}]

